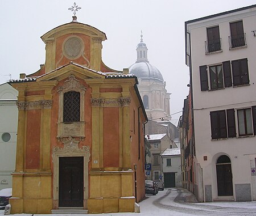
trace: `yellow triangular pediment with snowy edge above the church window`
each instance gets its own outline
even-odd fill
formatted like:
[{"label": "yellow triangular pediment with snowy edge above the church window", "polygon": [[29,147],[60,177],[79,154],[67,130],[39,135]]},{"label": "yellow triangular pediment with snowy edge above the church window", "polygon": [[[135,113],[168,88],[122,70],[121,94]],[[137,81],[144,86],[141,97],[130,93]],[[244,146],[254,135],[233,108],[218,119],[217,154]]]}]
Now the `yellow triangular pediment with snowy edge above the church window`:
[{"label": "yellow triangular pediment with snowy edge above the church window", "polygon": [[77,78],[81,79],[105,79],[104,73],[100,71],[94,71],[86,67],[77,65],[76,63],[70,62],[67,65],[61,66],[55,70],[50,71],[36,78],[36,82],[39,81],[61,81],[70,75],[75,75]]}]

